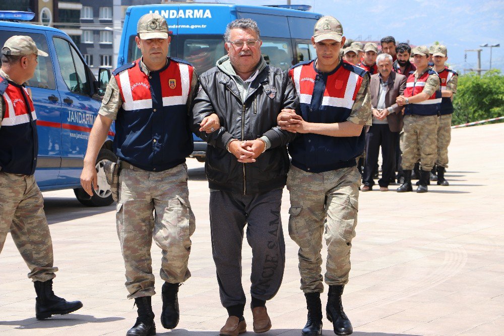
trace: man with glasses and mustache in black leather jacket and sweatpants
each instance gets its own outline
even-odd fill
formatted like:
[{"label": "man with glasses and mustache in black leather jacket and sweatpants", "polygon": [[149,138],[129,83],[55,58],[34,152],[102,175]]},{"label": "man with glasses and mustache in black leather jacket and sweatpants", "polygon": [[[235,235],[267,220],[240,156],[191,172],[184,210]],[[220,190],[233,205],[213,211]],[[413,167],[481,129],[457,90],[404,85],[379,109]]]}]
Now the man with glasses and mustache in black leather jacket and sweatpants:
[{"label": "man with glasses and mustache in black leather jacket and sweatpants", "polygon": [[[271,328],[265,303],[275,296],[283,277],[280,205],[289,169],[286,144],[294,138],[276,119],[282,110],[298,109],[299,101],[287,74],[264,61],[255,21],[229,23],[224,40],[228,54],[200,77],[193,131],[210,144],[205,170],[211,191],[212,252],[221,302],[229,314],[220,333],[238,335],[246,327],[241,285],[245,224],[253,252],[254,331]],[[219,116],[221,127],[200,133],[200,124],[212,113]]]}]

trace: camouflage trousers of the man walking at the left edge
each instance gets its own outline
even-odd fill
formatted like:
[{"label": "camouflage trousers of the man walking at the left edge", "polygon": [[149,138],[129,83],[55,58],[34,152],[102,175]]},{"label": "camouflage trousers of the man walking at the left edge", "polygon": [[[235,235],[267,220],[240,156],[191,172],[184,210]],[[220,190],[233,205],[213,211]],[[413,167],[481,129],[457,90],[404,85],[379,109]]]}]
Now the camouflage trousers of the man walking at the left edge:
[{"label": "camouflage trousers of the man walking at the left edge", "polygon": [[33,175],[0,172],[0,252],[11,233],[32,281],[45,282],[53,267],[52,240],[44,213],[44,199]]}]

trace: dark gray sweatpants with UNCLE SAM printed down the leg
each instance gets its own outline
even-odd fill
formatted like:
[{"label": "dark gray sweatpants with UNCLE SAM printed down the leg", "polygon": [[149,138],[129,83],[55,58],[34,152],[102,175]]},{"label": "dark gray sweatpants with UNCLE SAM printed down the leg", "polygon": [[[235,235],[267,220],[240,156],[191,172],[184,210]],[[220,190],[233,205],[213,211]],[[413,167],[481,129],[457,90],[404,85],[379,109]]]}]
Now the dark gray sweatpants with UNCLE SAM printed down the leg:
[{"label": "dark gray sweatpants with UNCLE SAM printed down the leg", "polygon": [[241,285],[241,246],[247,224],[252,248],[251,296],[270,300],[278,292],[285,268],[285,242],[280,219],[282,189],[254,195],[210,193],[212,253],[222,305],[245,305]]}]

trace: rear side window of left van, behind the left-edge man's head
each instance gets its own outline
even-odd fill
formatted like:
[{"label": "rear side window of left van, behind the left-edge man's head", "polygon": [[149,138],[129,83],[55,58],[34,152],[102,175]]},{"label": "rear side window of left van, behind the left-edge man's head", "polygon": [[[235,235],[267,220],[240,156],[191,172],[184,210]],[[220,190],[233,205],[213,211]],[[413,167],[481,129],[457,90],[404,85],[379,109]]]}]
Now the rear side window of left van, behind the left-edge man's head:
[{"label": "rear side window of left van, behind the left-edge man's head", "polygon": [[[19,31],[7,31],[0,30],[0,45],[4,45],[5,41],[13,35],[27,35],[33,38],[37,48],[47,53],[49,52],[49,46],[47,45],[47,39],[43,34],[34,34],[27,32],[19,32]],[[48,57],[38,57],[38,65],[35,68],[35,74],[33,78],[27,81],[28,86],[32,87],[40,87],[43,89],[52,89],[56,88],[56,82],[54,80],[54,71],[52,70],[52,63],[50,55]]]}]

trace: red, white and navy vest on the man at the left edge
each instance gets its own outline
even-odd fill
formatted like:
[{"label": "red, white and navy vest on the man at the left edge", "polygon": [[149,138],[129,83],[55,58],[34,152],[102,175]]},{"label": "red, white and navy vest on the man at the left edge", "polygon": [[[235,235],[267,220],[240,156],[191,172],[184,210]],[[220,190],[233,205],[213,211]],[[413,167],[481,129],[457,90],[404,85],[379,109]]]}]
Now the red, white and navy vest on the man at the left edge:
[{"label": "red, white and navy vest on the man at the left edge", "polygon": [[28,90],[0,77],[4,118],[0,127],[0,170],[33,175],[37,166],[37,115]]}]

